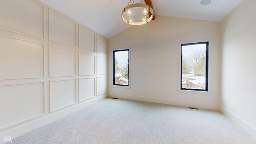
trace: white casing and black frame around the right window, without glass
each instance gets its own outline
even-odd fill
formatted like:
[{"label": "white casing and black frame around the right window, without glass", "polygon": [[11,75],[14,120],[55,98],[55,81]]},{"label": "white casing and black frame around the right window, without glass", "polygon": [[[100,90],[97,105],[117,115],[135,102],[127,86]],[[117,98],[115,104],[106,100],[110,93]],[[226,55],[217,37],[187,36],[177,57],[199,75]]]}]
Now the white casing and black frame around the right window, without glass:
[{"label": "white casing and black frame around the right window, without glass", "polygon": [[[202,44],[202,43],[208,43],[206,44],[206,89],[200,90],[200,89],[186,89],[182,88],[182,46],[186,45],[193,45],[193,44]],[[210,87],[210,50],[211,50],[211,39],[204,39],[204,40],[193,40],[193,41],[185,41],[185,42],[179,42],[178,44],[178,92],[184,92],[184,93],[193,93],[193,94],[211,94],[211,87]]]}]

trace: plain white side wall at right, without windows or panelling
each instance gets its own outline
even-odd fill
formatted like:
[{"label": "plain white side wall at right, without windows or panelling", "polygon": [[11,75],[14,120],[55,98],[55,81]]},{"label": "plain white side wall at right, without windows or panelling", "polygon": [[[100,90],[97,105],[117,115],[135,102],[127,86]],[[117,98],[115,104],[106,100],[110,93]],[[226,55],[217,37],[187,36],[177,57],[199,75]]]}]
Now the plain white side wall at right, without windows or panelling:
[{"label": "plain white side wall at right, without windows or panelling", "polygon": [[243,0],[221,23],[221,112],[256,137],[256,1]]}]

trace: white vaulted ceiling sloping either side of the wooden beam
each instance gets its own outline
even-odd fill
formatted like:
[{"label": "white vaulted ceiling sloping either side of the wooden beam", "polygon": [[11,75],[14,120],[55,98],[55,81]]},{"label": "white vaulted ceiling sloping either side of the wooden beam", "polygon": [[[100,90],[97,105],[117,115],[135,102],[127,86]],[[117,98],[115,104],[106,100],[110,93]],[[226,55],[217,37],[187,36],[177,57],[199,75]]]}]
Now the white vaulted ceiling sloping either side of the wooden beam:
[{"label": "white vaulted ceiling sloping either side of the wooden beam", "polygon": [[[130,0],[39,0],[110,38],[130,25],[122,21],[121,12]],[[152,0],[155,15],[221,22],[242,0]],[[138,3],[135,0],[135,3]],[[157,18],[156,18],[157,20]]]}]

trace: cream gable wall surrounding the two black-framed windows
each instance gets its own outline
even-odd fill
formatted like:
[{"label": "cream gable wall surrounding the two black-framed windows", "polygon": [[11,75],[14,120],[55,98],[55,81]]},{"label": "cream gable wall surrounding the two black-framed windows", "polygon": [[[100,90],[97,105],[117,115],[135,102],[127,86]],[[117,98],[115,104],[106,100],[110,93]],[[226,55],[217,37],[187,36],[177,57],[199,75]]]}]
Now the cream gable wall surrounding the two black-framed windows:
[{"label": "cream gable wall surrounding the two black-framed windows", "polygon": [[[210,92],[178,92],[178,43],[211,39]],[[130,89],[113,85],[112,49],[130,48]],[[220,22],[156,16],[142,26],[131,26],[108,40],[108,94],[111,97],[218,109]],[[127,93],[129,90],[129,93]],[[211,98],[215,101],[211,101]]]}]

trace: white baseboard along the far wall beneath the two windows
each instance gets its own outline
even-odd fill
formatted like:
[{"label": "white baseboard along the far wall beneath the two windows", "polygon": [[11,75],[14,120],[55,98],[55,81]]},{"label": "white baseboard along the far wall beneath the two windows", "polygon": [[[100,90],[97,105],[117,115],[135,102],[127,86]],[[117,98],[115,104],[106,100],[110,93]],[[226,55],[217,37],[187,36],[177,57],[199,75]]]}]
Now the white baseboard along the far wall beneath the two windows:
[{"label": "white baseboard along the far wall beneath the two windows", "polygon": [[138,100],[144,102],[155,102],[160,104],[171,104],[176,106],[187,106],[193,108],[203,108],[203,109],[210,109],[210,110],[218,110],[219,106],[216,104],[203,104],[203,103],[195,103],[195,102],[185,102],[185,101],[177,101],[177,100],[166,100],[166,99],[158,99],[158,98],[148,98],[142,96],[127,96],[127,95],[116,95],[116,94],[109,94],[109,97],[112,98],[123,98],[127,100]]}]

